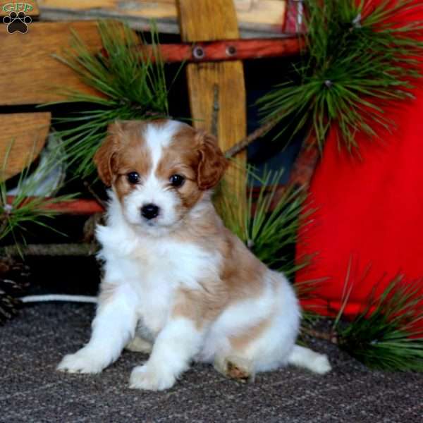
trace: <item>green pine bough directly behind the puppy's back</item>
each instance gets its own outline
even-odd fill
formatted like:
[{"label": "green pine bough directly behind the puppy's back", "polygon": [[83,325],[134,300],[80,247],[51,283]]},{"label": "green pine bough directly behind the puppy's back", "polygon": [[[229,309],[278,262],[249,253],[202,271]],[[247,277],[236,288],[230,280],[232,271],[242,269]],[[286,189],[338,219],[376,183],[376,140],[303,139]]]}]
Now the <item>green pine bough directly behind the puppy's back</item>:
[{"label": "green pine bough directly behind the puppy's back", "polygon": [[[241,166],[241,165],[238,165]],[[242,167],[245,168],[245,167]],[[214,204],[225,226],[247,245],[267,266],[293,277],[295,271],[307,264],[307,259],[295,264],[293,251],[300,225],[306,225],[310,212],[303,212],[307,197],[305,189],[286,187],[278,194],[281,171],[264,171],[258,176],[247,167],[250,180],[259,181],[257,196],[247,192],[247,201],[240,202],[223,180],[214,197]]]}]

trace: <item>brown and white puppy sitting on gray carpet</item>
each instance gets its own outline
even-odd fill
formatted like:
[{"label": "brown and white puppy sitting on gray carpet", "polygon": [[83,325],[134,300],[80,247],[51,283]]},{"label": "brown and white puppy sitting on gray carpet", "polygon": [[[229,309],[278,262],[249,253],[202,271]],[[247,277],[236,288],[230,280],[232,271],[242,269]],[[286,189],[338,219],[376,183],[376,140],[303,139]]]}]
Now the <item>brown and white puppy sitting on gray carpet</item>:
[{"label": "brown and white puppy sitting on gray carpet", "polygon": [[116,122],[94,157],[111,186],[90,342],[58,369],[98,373],[123,348],[149,353],[130,387],[170,388],[192,360],[245,381],[296,364],[320,374],[326,355],[295,345],[300,308],[283,274],[228,231],[212,188],[227,162],[214,137],[184,123]]}]

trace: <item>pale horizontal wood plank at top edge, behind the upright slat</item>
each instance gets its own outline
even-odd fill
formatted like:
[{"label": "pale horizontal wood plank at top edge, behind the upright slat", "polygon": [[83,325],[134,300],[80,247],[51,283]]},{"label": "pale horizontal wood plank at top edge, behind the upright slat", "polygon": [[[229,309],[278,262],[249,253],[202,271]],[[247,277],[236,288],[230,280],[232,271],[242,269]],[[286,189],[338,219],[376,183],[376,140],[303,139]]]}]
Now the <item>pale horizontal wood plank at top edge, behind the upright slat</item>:
[{"label": "pale horizontal wood plank at top edge, behind the upright slat", "polygon": [[[202,0],[197,0],[199,4]],[[125,19],[136,30],[148,30],[154,19],[160,32],[178,33],[176,0],[39,0],[42,20]],[[233,0],[242,37],[281,34],[283,0]],[[209,17],[210,18],[210,17]],[[210,21],[209,21],[210,23]]]}]

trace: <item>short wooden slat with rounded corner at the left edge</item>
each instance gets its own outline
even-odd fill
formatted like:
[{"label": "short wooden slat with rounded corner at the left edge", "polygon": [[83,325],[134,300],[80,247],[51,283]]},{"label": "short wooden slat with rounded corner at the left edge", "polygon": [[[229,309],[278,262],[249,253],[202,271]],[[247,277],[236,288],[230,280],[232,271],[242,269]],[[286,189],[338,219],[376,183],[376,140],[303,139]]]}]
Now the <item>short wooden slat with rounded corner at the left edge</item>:
[{"label": "short wooden slat with rounded corner at the left edge", "polygon": [[38,157],[50,122],[48,112],[0,114],[0,181],[17,175]]}]

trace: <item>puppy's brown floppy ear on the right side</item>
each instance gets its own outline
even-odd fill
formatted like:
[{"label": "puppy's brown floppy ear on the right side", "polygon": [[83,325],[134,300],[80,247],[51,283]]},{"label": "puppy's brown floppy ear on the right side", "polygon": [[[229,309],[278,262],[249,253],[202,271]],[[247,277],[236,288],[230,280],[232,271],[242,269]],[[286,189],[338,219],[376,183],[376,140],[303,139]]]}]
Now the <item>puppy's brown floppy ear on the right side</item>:
[{"label": "puppy's brown floppy ear on the right side", "polygon": [[200,190],[213,188],[228,167],[228,160],[223,156],[214,136],[199,131],[200,162],[197,168],[197,185]]}]

